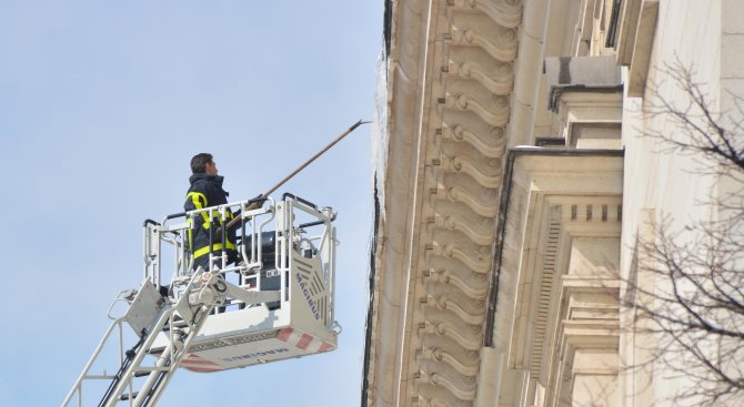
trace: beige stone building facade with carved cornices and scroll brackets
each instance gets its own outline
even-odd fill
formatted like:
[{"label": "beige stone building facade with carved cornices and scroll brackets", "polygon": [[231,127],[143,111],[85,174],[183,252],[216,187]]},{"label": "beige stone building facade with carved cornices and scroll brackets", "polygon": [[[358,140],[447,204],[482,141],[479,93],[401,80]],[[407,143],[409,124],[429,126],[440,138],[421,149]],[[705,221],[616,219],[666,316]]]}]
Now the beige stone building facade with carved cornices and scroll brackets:
[{"label": "beige stone building facade with carved cornices and scroll brackets", "polygon": [[657,284],[639,240],[735,185],[666,149],[657,110],[690,72],[737,122],[743,21],[738,0],[386,2],[362,405],[680,401],[695,383],[629,305]]}]

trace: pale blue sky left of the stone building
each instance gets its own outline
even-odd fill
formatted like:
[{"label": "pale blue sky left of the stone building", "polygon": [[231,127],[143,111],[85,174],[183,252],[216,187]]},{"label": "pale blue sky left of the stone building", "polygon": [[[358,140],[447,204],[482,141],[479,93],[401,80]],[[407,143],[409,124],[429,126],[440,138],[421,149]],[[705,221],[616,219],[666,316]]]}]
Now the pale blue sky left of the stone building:
[{"label": "pale blue sky left of the stone building", "polygon": [[[382,0],[0,0],[0,405],[60,405],[142,279],[142,221],[181,212],[210,152],[231,201],[374,112]],[[360,404],[371,129],[284,185],[338,212],[339,349],[179,370],[161,406]]]}]

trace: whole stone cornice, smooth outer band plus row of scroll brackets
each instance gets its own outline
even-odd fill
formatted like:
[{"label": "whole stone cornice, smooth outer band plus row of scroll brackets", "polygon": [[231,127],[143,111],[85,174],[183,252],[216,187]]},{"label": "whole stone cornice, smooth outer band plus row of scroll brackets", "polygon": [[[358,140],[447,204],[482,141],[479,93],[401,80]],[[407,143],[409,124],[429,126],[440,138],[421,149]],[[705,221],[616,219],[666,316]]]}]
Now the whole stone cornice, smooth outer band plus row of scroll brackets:
[{"label": "whole stone cornice, smooth outer band plus row of scroll brackets", "polygon": [[522,4],[414,0],[393,8],[364,404],[471,406]]}]

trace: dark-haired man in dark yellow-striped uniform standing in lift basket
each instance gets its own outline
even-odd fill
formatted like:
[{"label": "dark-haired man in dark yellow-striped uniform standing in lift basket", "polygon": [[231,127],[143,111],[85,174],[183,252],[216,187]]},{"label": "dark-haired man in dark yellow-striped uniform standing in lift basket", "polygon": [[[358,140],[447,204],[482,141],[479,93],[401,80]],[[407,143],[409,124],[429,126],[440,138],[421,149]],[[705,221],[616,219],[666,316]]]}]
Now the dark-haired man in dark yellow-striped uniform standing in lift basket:
[{"label": "dark-haired man in dark yellow-striped uniform standing in lift basket", "polygon": [[[192,175],[189,179],[191,187],[189,187],[183,204],[187,212],[228,203],[229,194],[222,189],[224,177],[218,175],[212,154],[200,153],[194,155],[191,159],[191,172]],[[229,210],[225,213],[224,222],[219,211],[202,212],[192,217],[191,222],[195,223],[189,230],[189,248],[193,255],[192,271],[195,271],[199,266],[203,269],[211,269],[209,264],[210,252],[219,257],[223,248],[228,254],[228,264],[234,263],[238,257],[235,230],[227,230],[224,242],[222,240],[223,223],[227,224],[232,217],[233,213]],[[217,264],[220,267],[222,266],[221,263]]]}]

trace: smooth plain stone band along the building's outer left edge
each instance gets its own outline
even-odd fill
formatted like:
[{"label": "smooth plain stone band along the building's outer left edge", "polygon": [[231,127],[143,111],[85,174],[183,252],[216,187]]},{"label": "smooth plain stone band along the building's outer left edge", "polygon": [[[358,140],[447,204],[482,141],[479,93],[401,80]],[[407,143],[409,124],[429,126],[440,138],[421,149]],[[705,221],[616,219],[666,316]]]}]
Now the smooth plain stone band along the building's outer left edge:
[{"label": "smooth plain stone band along the building's outer left edge", "polygon": [[373,295],[368,320],[370,337],[369,360],[364,372],[363,405],[399,404],[402,368],[402,332],[405,329],[408,279],[411,251],[413,191],[416,183],[416,162],[420,143],[421,106],[415,102],[424,72],[426,40],[424,28],[428,14],[424,1],[395,1],[392,7],[391,43],[388,55],[388,151],[383,216],[379,220],[374,248]]}]

